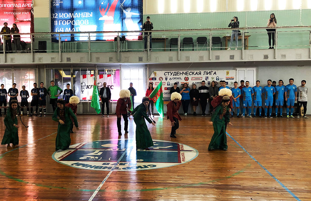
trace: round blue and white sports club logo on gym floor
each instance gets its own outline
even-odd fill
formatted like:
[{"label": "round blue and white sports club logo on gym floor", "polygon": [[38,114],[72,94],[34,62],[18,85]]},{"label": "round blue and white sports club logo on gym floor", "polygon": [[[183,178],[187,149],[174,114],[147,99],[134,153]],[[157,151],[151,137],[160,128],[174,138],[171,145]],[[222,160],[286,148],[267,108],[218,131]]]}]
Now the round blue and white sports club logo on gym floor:
[{"label": "round blue and white sports club logo on gym floor", "polygon": [[153,140],[150,150],[136,149],[133,139],[110,139],[71,145],[52,158],[67,166],[101,171],[138,171],[189,162],[198,151],[185,144]]}]

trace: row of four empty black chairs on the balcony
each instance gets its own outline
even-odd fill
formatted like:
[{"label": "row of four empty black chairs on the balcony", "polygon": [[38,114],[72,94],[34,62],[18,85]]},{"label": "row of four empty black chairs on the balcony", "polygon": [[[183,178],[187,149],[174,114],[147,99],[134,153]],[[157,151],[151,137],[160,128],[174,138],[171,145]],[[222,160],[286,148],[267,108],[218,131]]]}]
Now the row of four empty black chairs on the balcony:
[{"label": "row of four empty black chairs on the balcony", "polygon": [[[193,51],[194,50],[193,38],[192,37],[183,38],[183,46],[189,45],[189,44],[192,44],[192,51]],[[203,45],[207,44],[207,37],[205,36],[197,37],[197,44],[203,44]],[[219,36],[212,37],[212,44],[220,44],[220,48],[222,50],[222,41]],[[172,50],[172,45],[178,45],[178,38],[171,38],[171,40],[169,41],[169,51]],[[208,50],[208,45],[206,47],[206,50]]]}]

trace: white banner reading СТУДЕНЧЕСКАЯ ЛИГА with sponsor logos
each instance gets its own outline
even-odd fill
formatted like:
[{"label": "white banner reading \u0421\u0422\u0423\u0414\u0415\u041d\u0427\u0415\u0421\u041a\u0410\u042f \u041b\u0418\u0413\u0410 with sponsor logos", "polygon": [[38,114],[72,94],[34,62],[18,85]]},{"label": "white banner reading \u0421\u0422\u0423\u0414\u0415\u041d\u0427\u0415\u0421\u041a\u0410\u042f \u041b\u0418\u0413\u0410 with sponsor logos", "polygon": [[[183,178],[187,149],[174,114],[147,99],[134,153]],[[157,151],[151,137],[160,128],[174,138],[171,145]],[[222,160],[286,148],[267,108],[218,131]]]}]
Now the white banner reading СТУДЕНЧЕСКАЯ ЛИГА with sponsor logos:
[{"label": "white banner reading \u0421\u0422\u0423\u0414\u0415\u041d\u0427\u0415\u0421\u041a\u0410\u042f \u041b\u0418\u0413\u0410 with sponsor logos", "polygon": [[234,87],[236,78],[235,70],[216,70],[216,71],[153,71],[149,77],[149,82],[153,83],[153,87],[157,86],[162,80],[163,97],[170,97],[169,90],[177,82],[180,88],[184,83],[188,83],[192,88],[192,84],[196,84],[197,88],[201,86],[201,82],[204,80],[206,86],[211,86],[211,82],[215,81],[217,86],[219,81],[224,80],[226,85]]}]

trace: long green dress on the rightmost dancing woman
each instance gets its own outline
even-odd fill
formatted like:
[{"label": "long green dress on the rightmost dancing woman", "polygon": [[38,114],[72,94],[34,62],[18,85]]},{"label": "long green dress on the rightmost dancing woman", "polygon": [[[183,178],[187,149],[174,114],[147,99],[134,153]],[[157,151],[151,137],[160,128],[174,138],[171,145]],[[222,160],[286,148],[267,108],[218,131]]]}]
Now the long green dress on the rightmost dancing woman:
[{"label": "long green dress on the rightmost dancing woman", "polygon": [[229,106],[218,105],[213,112],[211,121],[213,122],[214,134],[208,145],[208,150],[227,149],[226,127],[230,122]]}]

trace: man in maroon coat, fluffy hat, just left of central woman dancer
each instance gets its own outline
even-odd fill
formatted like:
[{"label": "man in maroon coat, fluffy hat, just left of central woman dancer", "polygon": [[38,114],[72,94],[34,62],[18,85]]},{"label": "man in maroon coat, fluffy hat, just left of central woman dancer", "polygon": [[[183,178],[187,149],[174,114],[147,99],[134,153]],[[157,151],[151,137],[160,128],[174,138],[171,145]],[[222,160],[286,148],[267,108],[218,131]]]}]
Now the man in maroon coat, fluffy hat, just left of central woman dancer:
[{"label": "man in maroon coat, fluffy hat, just left of central woman dancer", "polygon": [[123,120],[124,120],[124,131],[125,131],[125,134],[127,134],[128,133],[128,111],[130,111],[132,102],[130,100],[130,96],[131,96],[130,90],[122,89],[119,95],[120,95],[120,98],[117,101],[116,114],[117,114],[118,133],[119,135],[122,135],[121,115],[123,116]]}]

